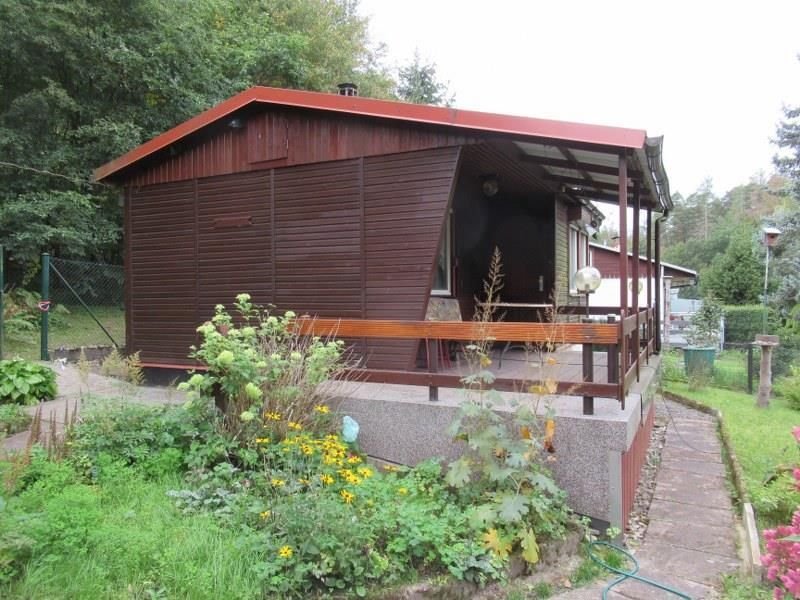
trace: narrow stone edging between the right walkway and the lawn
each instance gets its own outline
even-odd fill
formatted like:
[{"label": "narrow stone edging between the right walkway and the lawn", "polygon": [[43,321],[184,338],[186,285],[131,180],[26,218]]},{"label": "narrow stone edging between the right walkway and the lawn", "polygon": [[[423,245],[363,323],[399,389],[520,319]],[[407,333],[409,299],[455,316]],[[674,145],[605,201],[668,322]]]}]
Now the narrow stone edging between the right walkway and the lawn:
[{"label": "narrow stone edging between the right walkway and the lawn", "polygon": [[672,392],[663,391],[665,398],[683,404],[689,408],[705,413],[714,417],[719,427],[719,436],[722,440],[722,447],[725,450],[728,466],[730,467],[731,479],[733,480],[733,487],[736,489],[736,494],[742,503],[742,521],[744,523],[744,569],[752,575],[754,579],[760,580],[763,574],[763,567],[761,565],[761,545],[758,539],[758,528],[756,527],[755,514],[753,512],[753,505],[750,502],[750,495],[744,486],[744,472],[739,459],[736,457],[736,452],[733,450],[731,444],[730,432],[728,426],[725,424],[725,419],[722,416],[722,411],[700,404],[699,402],[673,394]]}]

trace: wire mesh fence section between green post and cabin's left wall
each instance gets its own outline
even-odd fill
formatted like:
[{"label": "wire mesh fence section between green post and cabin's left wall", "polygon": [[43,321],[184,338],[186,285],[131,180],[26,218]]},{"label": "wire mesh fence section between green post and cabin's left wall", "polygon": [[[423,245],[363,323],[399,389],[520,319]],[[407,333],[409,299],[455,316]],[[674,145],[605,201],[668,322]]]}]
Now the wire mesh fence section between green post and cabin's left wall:
[{"label": "wire mesh fence section between green post and cabin's left wall", "polygon": [[50,271],[48,348],[124,346],[124,268],[51,258]]}]

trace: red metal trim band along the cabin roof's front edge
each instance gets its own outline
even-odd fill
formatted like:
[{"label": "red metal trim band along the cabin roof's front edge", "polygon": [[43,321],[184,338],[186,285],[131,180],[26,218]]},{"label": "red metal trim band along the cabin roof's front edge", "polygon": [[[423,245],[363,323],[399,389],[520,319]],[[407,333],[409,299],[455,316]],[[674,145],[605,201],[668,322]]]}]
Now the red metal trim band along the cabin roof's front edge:
[{"label": "red metal trim band along the cabin roof's front edge", "polygon": [[410,123],[427,123],[472,131],[519,135],[538,140],[566,140],[621,149],[641,150],[647,139],[646,132],[639,129],[500,115],[359,96],[253,87],[99,167],[94,171],[94,178],[96,181],[105,179],[252,103],[277,104]]}]

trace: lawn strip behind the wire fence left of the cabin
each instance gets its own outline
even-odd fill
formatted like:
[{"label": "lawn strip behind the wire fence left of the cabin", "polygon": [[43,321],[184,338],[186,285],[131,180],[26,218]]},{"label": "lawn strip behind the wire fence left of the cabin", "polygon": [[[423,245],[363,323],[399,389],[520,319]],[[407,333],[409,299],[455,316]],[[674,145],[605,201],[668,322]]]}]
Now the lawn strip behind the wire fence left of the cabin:
[{"label": "lawn strip behind the wire fence left of the cabin", "polygon": [[[82,306],[67,307],[68,314],[55,314],[49,328],[49,348],[80,348],[108,346],[111,341]],[[93,306],[92,312],[117,344],[125,343],[125,311],[119,306]],[[30,360],[39,358],[39,331],[24,340],[6,335],[5,357],[19,356]]]}]

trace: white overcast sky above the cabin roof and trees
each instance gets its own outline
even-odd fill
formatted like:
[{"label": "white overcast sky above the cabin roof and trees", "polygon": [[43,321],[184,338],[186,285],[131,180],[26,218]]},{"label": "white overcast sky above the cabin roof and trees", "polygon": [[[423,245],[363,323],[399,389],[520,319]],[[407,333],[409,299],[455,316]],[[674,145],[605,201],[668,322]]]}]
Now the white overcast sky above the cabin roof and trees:
[{"label": "white overcast sky above the cabin roof and trees", "polygon": [[400,65],[418,48],[456,107],[664,135],[673,192],[772,171],[800,104],[800,0],[361,0]]}]

